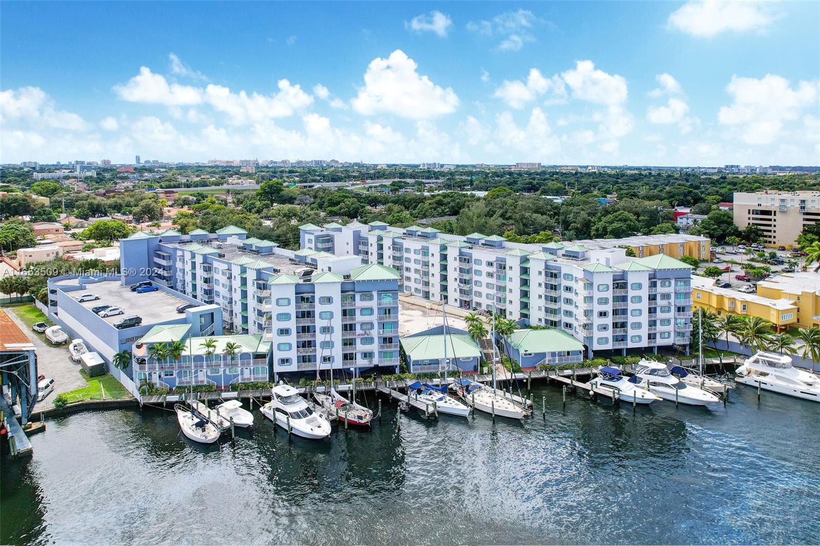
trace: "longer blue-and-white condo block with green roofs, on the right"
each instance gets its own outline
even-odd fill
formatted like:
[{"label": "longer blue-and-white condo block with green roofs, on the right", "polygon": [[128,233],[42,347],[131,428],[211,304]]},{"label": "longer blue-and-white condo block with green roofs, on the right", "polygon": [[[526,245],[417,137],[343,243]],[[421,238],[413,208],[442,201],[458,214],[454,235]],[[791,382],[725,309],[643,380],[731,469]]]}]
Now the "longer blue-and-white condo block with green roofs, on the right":
[{"label": "longer blue-and-white condo block with green roofs, on the right", "polygon": [[691,267],[666,253],[626,257],[619,239],[523,244],[380,222],[304,225],[301,238],[303,253],[353,248],[362,262],[393,267],[403,293],[553,326],[590,353],[689,344]]}]

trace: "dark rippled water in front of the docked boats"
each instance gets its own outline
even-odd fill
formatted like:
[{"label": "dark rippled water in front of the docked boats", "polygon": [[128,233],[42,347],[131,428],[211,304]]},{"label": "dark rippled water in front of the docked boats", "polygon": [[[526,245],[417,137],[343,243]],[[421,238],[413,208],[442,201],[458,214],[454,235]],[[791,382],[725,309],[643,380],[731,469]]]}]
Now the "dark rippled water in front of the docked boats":
[{"label": "dark rippled water in front of the docked boats", "polygon": [[258,412],[235,446],[192,444],[160,410],[49,421],[32,461],[2,466],[0,543],[820,542],[820,404],[534,394],[546,419],[427,422],[385,402],[373,430],[326,442]]}]

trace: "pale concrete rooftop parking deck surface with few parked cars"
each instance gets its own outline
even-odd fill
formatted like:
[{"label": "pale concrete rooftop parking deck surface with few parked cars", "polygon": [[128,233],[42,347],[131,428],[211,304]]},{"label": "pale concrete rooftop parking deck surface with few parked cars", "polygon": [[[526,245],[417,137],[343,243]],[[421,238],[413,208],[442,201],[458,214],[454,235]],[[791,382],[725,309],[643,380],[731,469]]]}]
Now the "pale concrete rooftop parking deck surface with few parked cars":
[{"label": "pale concrete rooftop parking deck surface with few parked cars", "polygon": [[172,296],[170,293],[162,292],[162,290],[146,293],[131,292],[128,287],[122,286],[116,280],[89,284],[85,290],[72,292],[71,295],[79,296],[81,293],[95,293],[100,297],[92,302],[83,302],[83,307],[89,309],[99,305],[122,307],[125,311],[124,314],[103,318],[103,321],[108,324],[120,321],[125,316],[133,315],[143,317],[143,324],[167,321],[178,317],[176,307],[186,303],[185,300]]}]

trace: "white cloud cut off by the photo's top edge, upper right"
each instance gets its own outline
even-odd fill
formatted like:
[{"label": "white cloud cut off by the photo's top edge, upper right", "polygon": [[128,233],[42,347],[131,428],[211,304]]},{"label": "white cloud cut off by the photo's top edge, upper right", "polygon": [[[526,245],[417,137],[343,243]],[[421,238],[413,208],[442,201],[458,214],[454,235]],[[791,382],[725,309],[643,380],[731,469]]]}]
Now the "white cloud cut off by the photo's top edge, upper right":
[{"label": "white cloud cut off by the photo's top edge, upper right", "polygon": [[724,32],[765,30],[780,16],[775,2],[691,0],[672,11],[667,25],[697,38],[713,38]]}]

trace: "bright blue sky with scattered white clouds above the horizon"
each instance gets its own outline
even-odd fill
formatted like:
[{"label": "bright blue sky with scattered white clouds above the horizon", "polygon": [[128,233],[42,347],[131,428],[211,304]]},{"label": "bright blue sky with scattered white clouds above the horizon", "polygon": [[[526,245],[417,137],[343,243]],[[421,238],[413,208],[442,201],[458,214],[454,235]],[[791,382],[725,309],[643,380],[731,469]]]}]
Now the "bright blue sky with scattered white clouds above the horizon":
[{"label": "bright blue sky with scattered white clouds above the horizon", "polygon": [[2,11],[2,162],[820,164],[818,2]]}]

